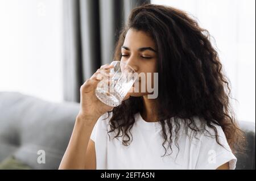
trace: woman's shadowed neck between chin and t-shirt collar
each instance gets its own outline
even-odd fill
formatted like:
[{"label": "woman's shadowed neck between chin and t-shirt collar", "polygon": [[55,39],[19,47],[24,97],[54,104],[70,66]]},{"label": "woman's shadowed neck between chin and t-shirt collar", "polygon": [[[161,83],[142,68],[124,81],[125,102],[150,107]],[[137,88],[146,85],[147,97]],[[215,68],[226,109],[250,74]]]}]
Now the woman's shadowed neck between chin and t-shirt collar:
[{"label": "woman's shadowed neck between chin and t-shirt collar", "polygon": [[156,103],[156,99],[148,99],[147,95],[143,96],[143,110],[141,112],[143,120],[147,122],[158,121],[158,109]]}]

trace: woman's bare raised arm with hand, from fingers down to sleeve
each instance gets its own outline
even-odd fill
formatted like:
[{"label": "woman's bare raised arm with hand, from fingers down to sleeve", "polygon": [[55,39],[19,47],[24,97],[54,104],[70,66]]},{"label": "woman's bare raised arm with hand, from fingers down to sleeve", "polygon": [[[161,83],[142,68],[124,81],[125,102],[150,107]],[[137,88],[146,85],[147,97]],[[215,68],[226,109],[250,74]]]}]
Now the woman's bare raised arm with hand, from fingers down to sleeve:
[{"label": "woman's bare raised arm with hand, from fingers down to sleeve", "polygon": [[[109,73],[113,66],[104,65],[98,69],[80,88],[80,111],[76,117],[68,148],[61,160],[59,169],[96,169],[94,142],[90,134],[96,121],[113,107],[102,103],[95,95],[98,82]],[[98,76],[101,75],[101,76]],[[105,77],[106,78],[106,77]]]}]

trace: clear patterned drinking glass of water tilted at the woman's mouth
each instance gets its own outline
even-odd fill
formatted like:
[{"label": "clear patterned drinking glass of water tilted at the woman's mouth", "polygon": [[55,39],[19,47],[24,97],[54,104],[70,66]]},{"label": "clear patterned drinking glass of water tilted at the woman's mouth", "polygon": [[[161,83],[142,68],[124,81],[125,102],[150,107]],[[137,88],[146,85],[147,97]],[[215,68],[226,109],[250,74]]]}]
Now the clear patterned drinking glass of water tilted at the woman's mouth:
[{"label": "clear patterned drinking glass of water tilted at the woman's mouth", "polygon": [[95,94],[101,102],[116,107],[131,90],[138,74],[131,66],[121,61],[113,61],[110,65],[114,66],[110,68],[110,77],[98,83]]}]

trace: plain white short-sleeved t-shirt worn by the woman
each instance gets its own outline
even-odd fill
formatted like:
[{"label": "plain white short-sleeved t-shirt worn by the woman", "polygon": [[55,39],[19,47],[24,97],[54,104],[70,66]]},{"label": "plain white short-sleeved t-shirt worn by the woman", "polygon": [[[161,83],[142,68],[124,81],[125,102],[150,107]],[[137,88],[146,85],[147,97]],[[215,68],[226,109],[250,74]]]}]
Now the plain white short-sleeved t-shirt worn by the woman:
[{"label": "plain white short-sleeved t-shirt worn by the woman", "polygon": [[[181,126],[177,140],[179,153],[177,154],[178,149],[173,141],[172,154],[167,155],[170,153],[170,149],[167,149],[166,156],[162,157],[165,150],[159,122],[147,122],[140,113],[135,114],[135,123],[131,129],[133,141],[129,146],[124,146],[122,137],[113,139],[114,132],[109,133],[109,138],[109,120],[112,113],[108,119],[103,120],[106,117],[108,113],[98,119],[90,136],[96,149],[96,169],[217,169],[226,162],[229,162],[229,169],[236,168],[237,158],[220,126],[215,127],[220,143],[225,148],[217,143],[215,137],[206,136],[209,134],[198,133],[199,140],[194,137],[191,139]],[[212,129],[208,131],[214,135]]]}]

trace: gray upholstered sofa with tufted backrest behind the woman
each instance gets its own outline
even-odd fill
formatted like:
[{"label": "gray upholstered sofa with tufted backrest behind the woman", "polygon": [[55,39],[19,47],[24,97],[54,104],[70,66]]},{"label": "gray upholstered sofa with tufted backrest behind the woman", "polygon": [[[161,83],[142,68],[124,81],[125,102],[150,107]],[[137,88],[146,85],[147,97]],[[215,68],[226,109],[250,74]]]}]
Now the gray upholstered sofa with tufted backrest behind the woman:
[{"label": "gray upholstered sofa with tufted backrest behind the woman", "polygon": [[[77,103],[50,103],[17,92],[0,92],[0,162],[14,155],[32,169],[57,169],[67,148]],[[237,169],[255,169],[255,123],[241,121],[247,152],[237,155]],[[46,163],[38,163],[39,150]]]}]

